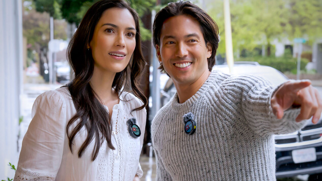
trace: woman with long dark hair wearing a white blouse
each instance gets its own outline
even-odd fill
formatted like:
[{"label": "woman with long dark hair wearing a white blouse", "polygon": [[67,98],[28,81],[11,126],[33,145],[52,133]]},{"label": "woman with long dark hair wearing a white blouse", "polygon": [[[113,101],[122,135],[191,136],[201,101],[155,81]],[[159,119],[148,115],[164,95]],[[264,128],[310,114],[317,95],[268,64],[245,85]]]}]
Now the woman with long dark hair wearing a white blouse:
[{"label": "woman with long dark hair wearing a white blouse", "polygon": [[[138,15],[124,1],[99,1],[87,11],[67,50],[75,79],[36,99],[15,180],[142,176],[147,100],[136,83],[145,65],[140,41]],[[129,86],[138,98],[123,92]]]}]

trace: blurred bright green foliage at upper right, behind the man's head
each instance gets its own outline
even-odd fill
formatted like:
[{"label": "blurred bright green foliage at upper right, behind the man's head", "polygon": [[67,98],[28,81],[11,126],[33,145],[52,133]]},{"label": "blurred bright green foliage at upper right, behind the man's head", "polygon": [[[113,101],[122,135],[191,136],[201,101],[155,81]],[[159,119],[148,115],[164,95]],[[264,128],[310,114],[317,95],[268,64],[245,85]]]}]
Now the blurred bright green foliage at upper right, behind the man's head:
[{"label": "blurred bright green foliage at upper right, behind the man's head", "polygon": [[[219,53],[225,52],[223,10],[222,0],[207,4],[207,12],[219,26]],[[265,54],[269,56],[273,54],[271,42],[275,39],[292,41],[303,37],[311,45],[316,38],[322,37],[320,0],[238,0],[230,3],[230,13],[234,51],[252,51],[258,45],[265,45]]]}]

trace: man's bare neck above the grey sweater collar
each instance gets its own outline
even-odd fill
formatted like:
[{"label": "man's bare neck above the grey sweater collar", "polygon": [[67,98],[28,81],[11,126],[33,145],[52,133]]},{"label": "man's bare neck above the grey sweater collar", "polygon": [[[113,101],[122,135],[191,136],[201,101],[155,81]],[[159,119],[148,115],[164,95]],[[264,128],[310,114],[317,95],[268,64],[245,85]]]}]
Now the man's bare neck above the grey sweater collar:
[{"label": "man's bare neck above the grey sweater collar", "polygon": [[210,75],[210,72],[206,71],[195,82],[190,84],[180,84],[180,83],[174,82],[174,85],[177,89],[179,103],[182,104],[186,100],[194,96],[199,90],[199,88],[205,83],[209,75]]}]

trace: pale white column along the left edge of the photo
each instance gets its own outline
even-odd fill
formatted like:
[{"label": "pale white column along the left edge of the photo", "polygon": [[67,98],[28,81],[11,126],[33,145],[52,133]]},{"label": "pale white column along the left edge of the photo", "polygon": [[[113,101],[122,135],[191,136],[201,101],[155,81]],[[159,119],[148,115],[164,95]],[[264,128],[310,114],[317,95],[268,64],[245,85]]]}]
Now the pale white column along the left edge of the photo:
[{"label": "pale white column along the left edge of the photo", "polygon": [[0,0],[0,179],[13,178],[22,88],[22,2]]}]

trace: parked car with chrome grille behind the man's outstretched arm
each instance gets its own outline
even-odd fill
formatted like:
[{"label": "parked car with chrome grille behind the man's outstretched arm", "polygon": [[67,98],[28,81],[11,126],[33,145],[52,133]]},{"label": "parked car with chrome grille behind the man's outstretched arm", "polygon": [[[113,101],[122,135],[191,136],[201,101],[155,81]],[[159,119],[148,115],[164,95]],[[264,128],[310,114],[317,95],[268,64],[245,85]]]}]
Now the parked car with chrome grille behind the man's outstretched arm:
[{"label": "parked car with chrome grille behind the man's outstretched arm", "polygon": [[[228,65],[215,65],[213,69],[229,73]],[[235,62],[232,74],[258,75],[270,80],[273,85],[279,85],[288,80],[280,71],[272,67],[261,66],[257,62]],[[161,92],[161,106],[169,102],[175,92],[175,86],[169,78]],[[315,125],[312,124],[311,119],[306,120],[307,125],[303,129],[295,133],[275,136],[277,178],[322,174],[321,119],[322,117]]]}]

